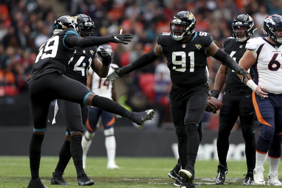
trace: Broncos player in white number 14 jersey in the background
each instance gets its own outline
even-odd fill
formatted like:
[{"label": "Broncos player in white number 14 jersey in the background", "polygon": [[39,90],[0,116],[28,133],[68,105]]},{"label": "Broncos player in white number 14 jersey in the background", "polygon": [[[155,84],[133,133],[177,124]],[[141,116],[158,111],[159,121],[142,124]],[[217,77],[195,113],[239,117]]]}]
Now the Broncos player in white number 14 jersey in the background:
[{"label": "Broncos player in white number 14 jersey in the background", "polygon": [[[113,49],[111,45],[104,44],[99,48],[104,48],[108,54],[113,58]],[[99,49],[98,48],[98,49]],[[118,67],[116,64],[111,63],[111,66]],[[109,73],[112,73],[114,70],[110,69]],[[90,69],[87,79],[87,86],[97,95],[115,100],[115,92],[113,88],[113,82],[108,82],[106,78],[101,78],[95,72]],[[105,135],[105,146],[108,156],[108,169],[118,169],[119,166],[115,164],[115,135],[114,135],[114,124],[115,124],[115,114],[102,110],[100,108],[90,108],[88,121],[86,122],[87,130],[82,137],[82,148],[83,148],[83,168],[86,168],[86,155],[89,150],[89,147],[92,143],[92,138],[95,135],[95,130],[97,125],[100,125],[100,122],[104,126],[104,135]]]}]

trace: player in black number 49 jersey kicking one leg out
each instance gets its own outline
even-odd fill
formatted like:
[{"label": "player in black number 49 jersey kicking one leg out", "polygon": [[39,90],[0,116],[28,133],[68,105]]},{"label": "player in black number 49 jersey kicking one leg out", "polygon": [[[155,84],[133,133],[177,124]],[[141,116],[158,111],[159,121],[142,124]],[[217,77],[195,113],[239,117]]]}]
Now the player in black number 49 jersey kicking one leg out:
[{"label": "player in black number 49 jersey kicking one leg out", "polygon": [[[119,34],[107,37],[79,37],[80,27],[77,20],[72,16],[60,16],[54,21],[54,29],[58,33],[49,38],[40,48],[33,66],[31,78],[28,81],[31,113],[33,118],[33,135],[29,146],[29,159],[31,169],[31,180],[28,188],[43,188],[39,177],[39,165],[41,158],[41,145],[46,131],[47,117],[50,103],[55,99],[68,100],[79,104],[87,104],[99,107],[103,110],[127,117],[133,122],[142,125],[146,120],[151,119],[153,110],[136,113],[130,112],[118,103],[108,98],[100,97],[91,92],[79,81],[67,77],[68,64],[73,60],[75,47],[87,48],[102,43],[115,42],[124,43],[130,41],[132,35]],[[102,52],[103,64],[109,65],[110,57]],[[82,71],[83,72],[83,71]],[[79,115],[81,116],[81,110]],[[78,123],[71,134],[70,152],[81,151],[81,140],[83,125]],[[75,155],[73,155],[75,156]],[[74,159],[78,166],[82,167],[82,157]],[[91,182],[83,168],[77,173],[78,184],[86,185]]]}]

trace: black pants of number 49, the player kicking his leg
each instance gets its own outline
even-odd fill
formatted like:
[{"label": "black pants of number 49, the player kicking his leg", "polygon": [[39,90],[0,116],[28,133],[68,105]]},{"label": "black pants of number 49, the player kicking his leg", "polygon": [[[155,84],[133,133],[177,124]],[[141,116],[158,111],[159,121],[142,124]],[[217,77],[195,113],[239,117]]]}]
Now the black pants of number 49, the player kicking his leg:
[{"label": "black pants of number 49, the player kicking his leg", "polygon": [[[46,130],[49,105],[53,100],[62,99],[83,104],[88,93],[92,93],[92,91],[85,85],[58,73],[45,74],[31,81],[29,95],[34,130],[38,132]],[[80,108],[76,110],[79,111]],[[78,130],[81,129],[81,125],[78,127],[80,127]]]}]

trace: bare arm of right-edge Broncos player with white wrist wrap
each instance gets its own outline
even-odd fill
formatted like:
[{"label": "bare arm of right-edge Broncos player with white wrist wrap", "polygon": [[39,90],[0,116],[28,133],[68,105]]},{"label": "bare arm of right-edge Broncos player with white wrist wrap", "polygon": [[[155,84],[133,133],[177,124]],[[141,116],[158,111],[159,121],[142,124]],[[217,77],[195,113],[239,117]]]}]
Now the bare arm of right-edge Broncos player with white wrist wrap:
[{"label": "bare arm of right-edge Broncos player with white wrist wrap", "polygon": [[[243,57],[239,61],[239,65],[244,68],[245,70],[248,70],[251,66],[253,66],[256,63],[256,58],[251,50],[246,50]],[[239,78],[242,78],[242,75],[239,75]],[[248,74],[249,78],[251,76]],[[264,92],[267,91],[266,88],[262,85],[256,85],[253,80],[245,80],[244,83],[249,86],[254,92],[256,92],[257,95],[259,95],[262,98],[268,98],[268,93]],[[264,90],[264,91],[263,91]]]}]

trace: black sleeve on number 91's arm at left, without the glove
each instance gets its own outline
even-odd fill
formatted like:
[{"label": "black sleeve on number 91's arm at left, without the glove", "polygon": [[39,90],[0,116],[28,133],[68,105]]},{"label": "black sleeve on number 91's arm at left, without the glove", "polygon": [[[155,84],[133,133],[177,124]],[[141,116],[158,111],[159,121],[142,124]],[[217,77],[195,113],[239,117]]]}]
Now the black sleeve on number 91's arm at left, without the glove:
[{"label": "black sleeve on number 91's arm at left, without the glove", "polygon": [[132,72],[133,70],[145,67],[146,65],[149,65],[150,63],[154,62],[158,56],[156,56],[153,48],[150,52],[145,53],[144,55],[140,56],[136,61],[133,63],[128,64],[127,66],[122,67],[124,69],[124,73],[128,74]]}]

